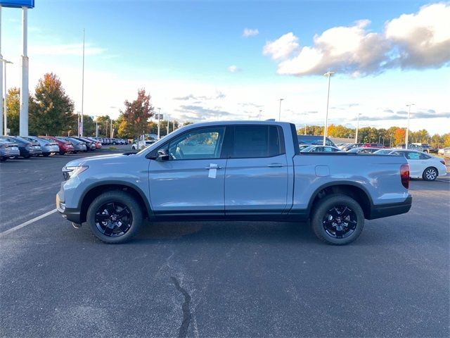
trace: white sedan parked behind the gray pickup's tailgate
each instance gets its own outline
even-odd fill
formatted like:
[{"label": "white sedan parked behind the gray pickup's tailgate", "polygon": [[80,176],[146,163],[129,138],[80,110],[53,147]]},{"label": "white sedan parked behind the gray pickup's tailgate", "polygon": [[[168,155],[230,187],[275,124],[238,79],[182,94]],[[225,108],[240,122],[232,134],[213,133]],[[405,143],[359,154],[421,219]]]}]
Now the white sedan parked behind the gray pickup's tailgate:
[{"label": "white sedan parked behind the gray pickup's tailgate", "polygon": [[409,177],[423,178],[425,181],[434,181],[438,176],[445,176],[447,173],[443,158],[428,155],[422,151],[392,149],[389,154],[403,155],[406,157],[406,161],[409,163]]}]

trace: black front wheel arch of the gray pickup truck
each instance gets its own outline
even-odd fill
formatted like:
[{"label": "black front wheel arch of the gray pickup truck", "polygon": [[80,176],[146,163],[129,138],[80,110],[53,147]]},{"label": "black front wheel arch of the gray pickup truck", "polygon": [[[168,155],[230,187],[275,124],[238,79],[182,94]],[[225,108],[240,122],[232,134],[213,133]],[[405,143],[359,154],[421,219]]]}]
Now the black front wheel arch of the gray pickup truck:
[{"label": "black front wheel arch of the gray pickup truck", "polygon": [[138,201],[139,205],[142,208],[143,216],[144,217],[150,216],[151,214],[150,204],[148,202],[146,194],[144,194],[139,187],[129,182],[108,181],[92,184],[83,193],[78,206],[80,221],[86,222],[87,209],[91,205],[92,201],[96,199],[97,196],[103,194],[103,192],[110,192],[112,190],[127,192],[131,196],[134,196],[134,198],[136,199],[136,201]]}]

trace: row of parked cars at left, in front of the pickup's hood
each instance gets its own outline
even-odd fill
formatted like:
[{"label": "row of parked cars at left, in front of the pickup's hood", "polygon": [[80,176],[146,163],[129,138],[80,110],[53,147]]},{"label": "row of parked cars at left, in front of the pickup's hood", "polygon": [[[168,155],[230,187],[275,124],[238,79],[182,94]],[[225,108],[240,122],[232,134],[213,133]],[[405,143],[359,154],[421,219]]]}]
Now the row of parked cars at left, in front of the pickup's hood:
[{"label": "row of parked cars at left, in front of the pickup's hood", "polygon": [[101,149],[102,143],[91,137],[0,136],[0,161],[53,154],[77,154]]}]

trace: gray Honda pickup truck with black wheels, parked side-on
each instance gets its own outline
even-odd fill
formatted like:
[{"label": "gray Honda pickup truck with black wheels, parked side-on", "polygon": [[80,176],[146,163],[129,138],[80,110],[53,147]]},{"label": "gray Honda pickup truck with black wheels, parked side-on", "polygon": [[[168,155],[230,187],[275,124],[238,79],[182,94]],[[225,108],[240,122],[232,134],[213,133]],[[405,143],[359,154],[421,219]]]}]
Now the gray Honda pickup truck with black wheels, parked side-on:
[{"label": "gray Honda pickup truck with black wheels, parked side-on", "polygon": [[63,217],[106,243],[147,218],[305,222],[328,244],[353,242],[364,219],[411,208],[404,156],[300,153],[295,125],[182,127],[137,154],[79,158],[63,168]]}]

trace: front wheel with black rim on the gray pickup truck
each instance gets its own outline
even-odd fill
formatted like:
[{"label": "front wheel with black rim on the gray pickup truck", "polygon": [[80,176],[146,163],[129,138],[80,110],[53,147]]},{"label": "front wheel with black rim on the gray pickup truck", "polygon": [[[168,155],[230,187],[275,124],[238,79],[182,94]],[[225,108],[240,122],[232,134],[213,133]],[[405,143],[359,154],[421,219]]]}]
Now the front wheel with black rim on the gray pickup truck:
[{"label": "front wheel with black rim on the gray pickup truck", "polygon": [[[124,215],[119,217],[122,212]],[[99,218],[105,220],[102,222]],[[91,231],[102,242],[120,244],[128,242],[139,232],[143,214],[140,204],[133,196],[127,192],[114,190],[105,192],[92,201],[86,220]]]}]

